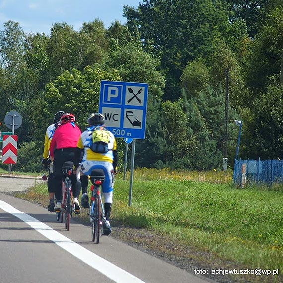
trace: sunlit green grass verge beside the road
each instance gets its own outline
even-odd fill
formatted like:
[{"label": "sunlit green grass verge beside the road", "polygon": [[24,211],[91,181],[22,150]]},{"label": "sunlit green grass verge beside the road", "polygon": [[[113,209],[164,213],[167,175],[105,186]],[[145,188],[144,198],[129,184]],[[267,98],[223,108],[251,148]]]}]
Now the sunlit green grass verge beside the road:
[{"label": "sunlit green grass verge beside the road", "polygon": [[[283,188],[239,189],[232,185],[231,175],[135,170],[128,207],[129,174],[125,181],[117,174],[112,219],[170,236],[239,266],[279,268],[282,274]],[[44,199],[47,205],[46,185],[34,187],[25,198]]]}]

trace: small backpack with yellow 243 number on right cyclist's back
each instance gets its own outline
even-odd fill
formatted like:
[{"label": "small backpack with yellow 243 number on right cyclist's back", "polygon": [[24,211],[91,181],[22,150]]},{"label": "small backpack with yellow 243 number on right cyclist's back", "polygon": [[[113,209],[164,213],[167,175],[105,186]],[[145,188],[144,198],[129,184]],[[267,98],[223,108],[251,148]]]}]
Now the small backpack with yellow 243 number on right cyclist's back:
[{"label": "small backpack with yellow 243 number on right cyclist's back", "polygon": [[90,135],[92,136],[90,149],[93,152],[106,153],[110,150],[108,144],[111,140],[111,136],[105,128],[103,127],[94,128],[94,130]]}]

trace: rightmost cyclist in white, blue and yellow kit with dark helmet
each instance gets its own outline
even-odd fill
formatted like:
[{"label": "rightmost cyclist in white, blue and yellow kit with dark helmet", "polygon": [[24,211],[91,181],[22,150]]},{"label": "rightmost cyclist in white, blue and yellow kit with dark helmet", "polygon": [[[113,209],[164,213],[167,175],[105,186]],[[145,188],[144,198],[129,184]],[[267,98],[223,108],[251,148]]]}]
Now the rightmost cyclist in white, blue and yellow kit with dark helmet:
[{"label": "rightmost cyclist in white, blue and yellow kit with dark helmet", "polygon": [[[90,175],[93,169],[103,169],[105,174],[105,180],[102,183],[102,191],[104,196],[104,210],[106,221],[103,224],[103,234],[109,235],[111,233],[110,227],[110,212],[113,201],[113,185],[114,185],[114,173],[116,173],[117,167],[117,143],[112,132],[105,128],[105,118],[100,113],[93,113],[89,116],[88,120],[89,128],[84,131],[77,143],[75,152],[75,168],[81,165],[81,171],[84,175]],[[100,131],[101,135],[107,136],[108,144],[107,149],[103,152],[94,152],[93,150],[93,132]],[[91,149],[92,148],[92,149]],[[81,202],[88,203],[87,194],[83,194]],[[86,207],[86,206],[84,206]]]}]

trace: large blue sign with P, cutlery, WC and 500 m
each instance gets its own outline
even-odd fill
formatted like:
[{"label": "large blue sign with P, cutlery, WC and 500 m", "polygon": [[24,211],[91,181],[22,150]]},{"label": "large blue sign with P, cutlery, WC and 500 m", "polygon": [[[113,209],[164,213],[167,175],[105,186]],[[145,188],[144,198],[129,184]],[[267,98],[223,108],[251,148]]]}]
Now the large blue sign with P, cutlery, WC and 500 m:
[{"label": "large blue sign with P, cutlery, WC and 500 m", "polygon": [[99,112],[116,138],[145,138],[147,95],[146,83],[101,81]]}]

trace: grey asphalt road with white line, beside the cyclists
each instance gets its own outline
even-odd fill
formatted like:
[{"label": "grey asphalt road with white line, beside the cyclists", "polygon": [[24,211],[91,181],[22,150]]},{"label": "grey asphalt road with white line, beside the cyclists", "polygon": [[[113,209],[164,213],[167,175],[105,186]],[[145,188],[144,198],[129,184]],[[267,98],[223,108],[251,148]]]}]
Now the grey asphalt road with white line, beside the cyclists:
[{"label": "grey asphalt road with white line, beside the cyclists", "polygon": [[0,282],[205,283],[110,236],[91,241],[91,228],[71,219],[70,231],[45,208],[1,192],[25,190],[38,178],[0,177]]}]

